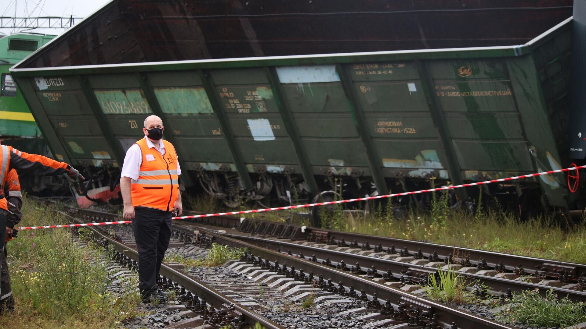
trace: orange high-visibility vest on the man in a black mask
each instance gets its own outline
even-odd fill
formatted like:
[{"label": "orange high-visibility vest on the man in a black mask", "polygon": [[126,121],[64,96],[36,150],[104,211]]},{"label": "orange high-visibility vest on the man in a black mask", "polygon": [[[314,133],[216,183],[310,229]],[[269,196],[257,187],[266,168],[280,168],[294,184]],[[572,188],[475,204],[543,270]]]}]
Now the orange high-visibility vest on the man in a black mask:
[{"label": "orange high-visibility vest on the man in a black mask", "polygon": [[162,140],[165,155],[155,148],[150,149],[147,139],[136,142],[142,152],[142,164],[138,179],[132,180],[131,198],[133,207],[149,207],[172,211],[179,196],[177,176],[177,153],[173,145]]}]

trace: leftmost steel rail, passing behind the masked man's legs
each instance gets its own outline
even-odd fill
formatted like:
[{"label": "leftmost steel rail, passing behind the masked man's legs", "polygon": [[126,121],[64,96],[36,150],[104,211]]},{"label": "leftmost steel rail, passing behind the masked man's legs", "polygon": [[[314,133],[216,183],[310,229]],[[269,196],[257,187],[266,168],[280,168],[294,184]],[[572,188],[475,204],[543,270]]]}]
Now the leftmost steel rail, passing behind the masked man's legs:
[{"label": "leftmost steel rail, passing behind the masked man's legs", "polygon": [[[79,223],[84,222],[80,218],[64,213],[63,211],[59,211],[59,213],[63,214],[67,218],[70,218],[70,220],[72,221]],[[111,215],[117,216],[115,214]],[[138,262],[138,251],[136,249],[133,249],[122,242],[116,241],[115,239],[110,238],[107,235],[104,235],[102,232],[100,232],[100,230],[98,230],[95,227],[86,228],[90,229],[93,232],[94,236],[98,239],[105,239],[105,241],[107,241],[109,245],[112,245],[116,251]],[[258,313],[255,313],[254,311],[248,309],[248,307],[241,305],[240,303],[234,301],[230,297],[226,297],[224,294],[218,292],[216,289],[206,285],[205,283],[199,282],[198,280],[195,280],[192,277],[185,275],[176,269],[171,268],[165,263],[161,265],[160,273],[167,279],[171,279],[173,282],[176,282],[180,286],[185,287],[186,290],[191,290],[193,293],[197,293],[197,295],[200,298],[205,298],[207,304],[209,306],[214,307],[214,309],[216,309],[216,307],[222,306],[225,310],[231,309],[233,310],[233,312],[235,311],[235,314],[239,316],[240,320],[244,323],[249,321],[249,324],[251,325],[254,325],[255,323],[260,323],[260,325],[267,329],[285,329],[282,325],[274,323],[268,318],[263,317]]]}]

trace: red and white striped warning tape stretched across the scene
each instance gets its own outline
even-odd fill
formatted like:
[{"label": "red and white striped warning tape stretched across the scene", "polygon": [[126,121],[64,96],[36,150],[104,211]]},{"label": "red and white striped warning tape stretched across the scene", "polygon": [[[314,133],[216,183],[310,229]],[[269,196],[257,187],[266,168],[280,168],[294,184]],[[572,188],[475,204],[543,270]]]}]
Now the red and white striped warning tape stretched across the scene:
[{"label": "red and white striped warning tape stretched across the scene", "polygon": [[[318,205],[340,204],[340,203],[349,203],[349,202],[356,202],[356,201],[366,201],[366,200],[374,200],[374,199],[382,199],[382,198],[390,198],[390,197],[408,196],[410,194],[420,194],[420,193],[428,193],[428,192],[434,192],[434,191],[459,189],[460,187],[469,187],[469,186],[478,186],[478,185],[484,185],[484,184],[490,184],[490,183],[499,183],[501,181],[510,181],[510,180],[517,180],[517,179],[530,178],[530,177],[536,177],[536,176],[543,176],[543,175],[548,175],[548,174],[563,173],[563,172],[569,172],[571,170],[578,170],[578,169],[584,169],[584,168],[586,168],[586,165],[558,169],[558,170],[551,170],[549,172],[541,172],[541,173],[527,174],[527,175],[507,177],[507,178],[501,178],[501,179],[485,180],[485,181],[479,181],[477,183],[461,184],[461,185],[454,185],[454,186],[442,186],[442,187],[437,187],[435,189],[419,190],[419,191],[411,191],[411,192],[403,192],[403,193],[393,193],[393,194],[387,194],[384,196],[353,198],[353,199],[347,199],[347,200],[327,201],[327,202],[318,202],[318,203],[309,203],[309,204],[287,205],[286,207],[230,211],[229,213],[180,216],[180,217],[173,217],[171,219],[172,220],[186,220],[189,218],[215,217],[215,216],[225,216],[225,215],[240,215],[240,214],[251,214],[251,213],[264,213],[266,211],[288,210],[288,209],[295,209],[295,208],[307,208],[307,207],[316,207]],[[20,229],[38,229],[38,228],[81,227],[81,226],[96,226],[96,225],[111,225],[111,224],[130,224],[131,222],[132,221],[119,221],[119,222],[96,222],[96,223],[67,224],[67,225],[46,225],[46,226],[19,227],[18,229],[20,230]]]}]

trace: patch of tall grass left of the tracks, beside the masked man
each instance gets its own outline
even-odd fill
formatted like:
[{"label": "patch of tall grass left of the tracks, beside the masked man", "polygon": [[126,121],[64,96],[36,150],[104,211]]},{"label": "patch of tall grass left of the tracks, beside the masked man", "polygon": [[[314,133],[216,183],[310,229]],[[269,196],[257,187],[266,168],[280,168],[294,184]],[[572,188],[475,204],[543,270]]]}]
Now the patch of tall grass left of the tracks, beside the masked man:
[{"label": "patch of tall grass left of the tracks, beside the masked man", "polygon": [[[64,224],[64,218],[25,197],[22,225]],[[18,233],[8,242],[15,312],[0,316],[0,328],[115,328],[135,316],[138,293],[114,293],[113,280],[96,257],[111,250],[78,248],[70,229]],[[127,282],[135,286],[135,282]]]}]

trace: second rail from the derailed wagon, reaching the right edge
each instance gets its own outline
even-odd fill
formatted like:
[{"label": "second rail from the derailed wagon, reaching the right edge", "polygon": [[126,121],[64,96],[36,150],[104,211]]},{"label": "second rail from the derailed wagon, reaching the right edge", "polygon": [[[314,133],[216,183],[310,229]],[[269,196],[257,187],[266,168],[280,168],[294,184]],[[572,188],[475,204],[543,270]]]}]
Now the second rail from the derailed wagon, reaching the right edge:
[{"label": "second rail from the derailed wagon, reaching the right edge", "polygon": [[[247,241],[257,246],[266,246],[272,250],[280,250],[281,252],[291,251],[291,253],[296,256],[303,255],[304,258],[311,258],[315,255],[318,263],[322,263],[322,261],[325,262],[326,259],[328,259],[332,265],[338,265],[341,261],[344,261],[348,269],[350,269],[350,266],[359,264],[362,274],[365,274],[368,269],[375,269],[378,273],[377,276],[379,277],[383,275],[383,273],[387,273],[391,275],[391,278],[394,277],[394,279],[399,279],[401,276],[403,276],[405,279],[411,280],[412,282],[418,282],[421,279],[421,276],[435,275],[435,273],[440,271],[448,272],[447,269],[399,262],[392,259],[382,259],[372,256],[359,255],[357,253],[335,251],[310,245],[295,244],[292,242],[276,239],[223,233],[213,231],[205,227],[180,225],[176,223],[175,227],[184,229],[185,231],[189,231],[190,228],[196,227],[197,229],[212,231],[214,234],[224,235],[226,237],[239,239],[241,241]],[[510,292],[512,293],[521,293],[523,290],[537,289],[539,290],[541,296],[545,297],[547,295],[547,290],[553,289],[559,297],[568,297],[568,299],[576,302],[586,301],[586,292],[577,290],[539,285],[537,283],[511,280],[502,277],[478,275],[475,273],[459,273],[459,275],[468,278],[468,282],[479,281],[480,283],[484,283],[486,286],[490,287],[490,291],[495,294],[495,296],[500,296],[500,294],[506,293],[507,289],[510,289]]]}]

